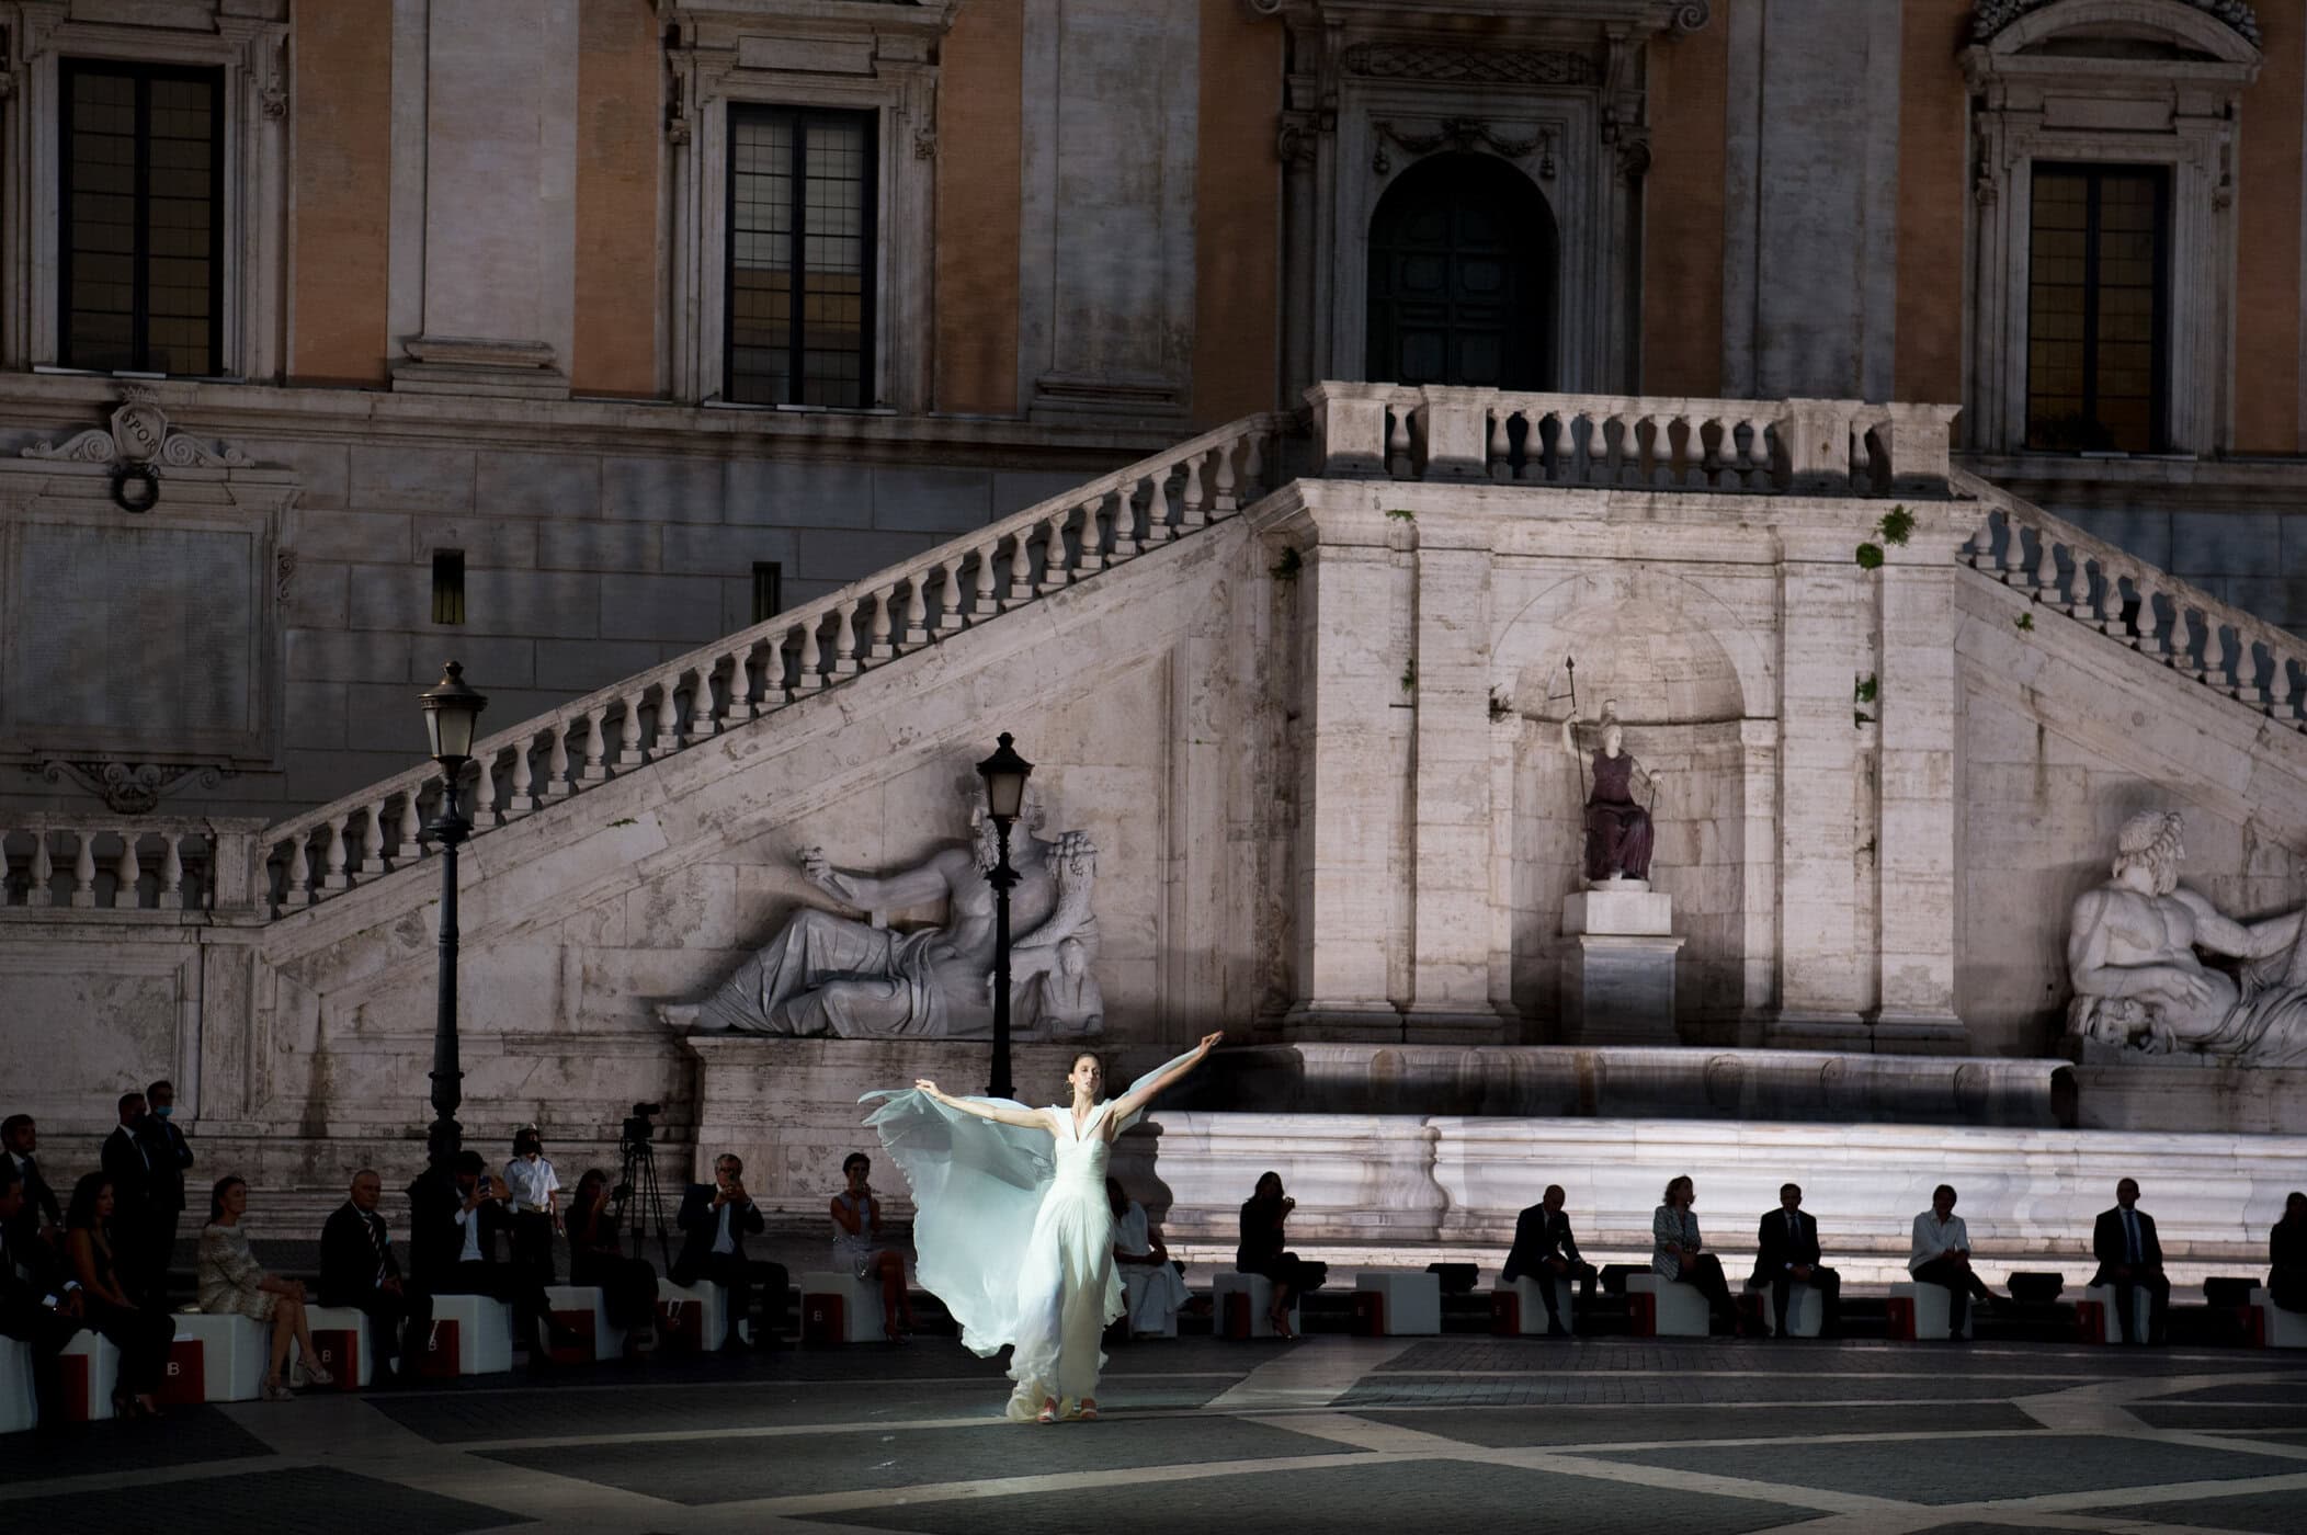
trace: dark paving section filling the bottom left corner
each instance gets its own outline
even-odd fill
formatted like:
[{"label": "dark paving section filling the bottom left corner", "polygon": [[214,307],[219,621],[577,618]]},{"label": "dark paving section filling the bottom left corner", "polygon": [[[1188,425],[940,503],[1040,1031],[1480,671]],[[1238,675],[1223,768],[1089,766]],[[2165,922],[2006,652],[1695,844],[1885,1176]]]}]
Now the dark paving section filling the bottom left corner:
[{"label": "dark paving section filling the bottom left corner", "polygon": [[531,1523],[459,1498],[415,1491],[328,1466],[258,1470],[175,1487],[122,1487],[0,1503],[7,1528],[39,1535],[120,1535],[166,1526],[168,1535],[454,1535]]}]

